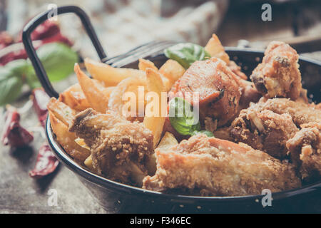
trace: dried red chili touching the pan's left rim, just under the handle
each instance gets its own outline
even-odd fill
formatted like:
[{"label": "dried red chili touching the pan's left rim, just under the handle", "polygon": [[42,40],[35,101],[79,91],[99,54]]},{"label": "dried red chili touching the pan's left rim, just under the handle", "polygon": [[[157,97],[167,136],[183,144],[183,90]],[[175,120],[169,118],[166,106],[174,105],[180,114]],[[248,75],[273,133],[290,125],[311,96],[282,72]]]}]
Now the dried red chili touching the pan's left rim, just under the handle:
[{"label": "dried red chili touching the pan's left rim, just under the handle", "polygon": [[32,90],[32,101],[34,103],[34,110],[38,115],[38,120],[43,127],[46,125],[46,118],[48,114],[47,104],[50,97],[42,88],[36,88]]}]

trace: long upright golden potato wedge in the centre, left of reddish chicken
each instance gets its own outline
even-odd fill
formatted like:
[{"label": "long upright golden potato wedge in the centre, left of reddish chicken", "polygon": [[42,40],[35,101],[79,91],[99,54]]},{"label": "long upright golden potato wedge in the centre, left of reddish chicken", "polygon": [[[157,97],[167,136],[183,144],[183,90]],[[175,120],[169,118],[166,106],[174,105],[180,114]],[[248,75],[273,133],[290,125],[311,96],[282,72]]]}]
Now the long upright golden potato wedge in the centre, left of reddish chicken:
[{"label": "long upright golden potato wedge in the centre, left of reddish chicken", "polygon": [[[163,84],[162,78],[160,73],[157,71],[147,68],[146,69],[146,81],[147,81],[147,89],[148,92],[154,92],[158,95],[158,107],[154,106],[155,100],[151,100],[149,102],[153,108],[158,108],[158,113],[153,112],[153,115],[148,116],[148,113],[145,112],[145,118],[143,120],[143,124],[146,128],[152,131],[153,133],[153,145],[156,147],[158,142],[161,138],[161,133],[163,131],[163,125],[165,123],[165,115],[162,113],[162,100],[161,100],[161,93],[165,92],[165,86]],[[146,105],[147,109],[148,105]]]}]

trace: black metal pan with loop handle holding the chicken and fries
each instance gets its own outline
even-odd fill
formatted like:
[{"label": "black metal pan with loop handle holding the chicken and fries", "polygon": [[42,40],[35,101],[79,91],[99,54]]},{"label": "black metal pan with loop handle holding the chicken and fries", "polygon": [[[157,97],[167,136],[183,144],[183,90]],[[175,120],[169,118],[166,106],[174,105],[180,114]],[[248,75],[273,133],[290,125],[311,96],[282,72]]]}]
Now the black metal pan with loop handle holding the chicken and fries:
[{"label": "black metal pan with loop handle holding the chicken and fries", "polygon": [[[161,66],[167,58],[163,51],[155,53],[140,53],[136,55],[137,48],[130,51],[126,61],[122,58],[108,59],[98,41],[95,31],[85,12],[77,6],[62,6],[58,8],[58,14],[74,13],[78,15],[86,29],[93,46],[96,48],[98,56],[102,62],[112,63],[113,66],[137,68],[138,58],[147,58],[156,66]],[[49,11],[36,16],[26,25],[23,31],[23,42],[26,52],[34,65],[39,81],[51,97],[58,98],[58,93],[51,85],[49,78],[44,71],[36,51],[31,43],[31,32],[36,26],[39,26],[47,19]],[[168,43],[168,46],[173,43]],[[243,72],[249,75],[253,69],[262,61],[263,51],[255,51],[248,48],[225,48],[230,58],[238,63]],[[113,61],[115,60],[115,61]],[[308,89],[313,99],[320,102],[320,84],[321,84],[321,63],[308,58],[299,59],[300,71],[304,87]],[[222,213],[222,212],[321,212],[321,181],[310,185],[288,190],[284,192],[272,193],[272,207],[263,208],[261,199],[263,195],[250,195],[243,197],[195,197],[186,195],[169,195],[161,192],[143,190],[139,187],[123,185],[119,182],[108,180],[105,177],[90,172],[85,167],[78,165],[67,153],[63,147],[58,144],[51,130],[50,120],[46,123],[46,136],[49,145],[58,157],[70,170],[76,173],[83,185],[98,200],[98,203],[105,207],[108,212],[145,212],[145,213]]]}]

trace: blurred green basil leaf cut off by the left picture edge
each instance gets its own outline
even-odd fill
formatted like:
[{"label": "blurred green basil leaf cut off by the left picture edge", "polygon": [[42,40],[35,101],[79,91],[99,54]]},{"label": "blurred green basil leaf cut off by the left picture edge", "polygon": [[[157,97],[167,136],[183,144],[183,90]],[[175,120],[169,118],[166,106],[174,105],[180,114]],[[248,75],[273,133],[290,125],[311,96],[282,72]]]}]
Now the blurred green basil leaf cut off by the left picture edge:
[{"label": "blurred green basil leaf cut off by the left picture edge", "polygon": [[19,97],[24,81],[7,68],[0,68],[0,105],[11,103]]}]

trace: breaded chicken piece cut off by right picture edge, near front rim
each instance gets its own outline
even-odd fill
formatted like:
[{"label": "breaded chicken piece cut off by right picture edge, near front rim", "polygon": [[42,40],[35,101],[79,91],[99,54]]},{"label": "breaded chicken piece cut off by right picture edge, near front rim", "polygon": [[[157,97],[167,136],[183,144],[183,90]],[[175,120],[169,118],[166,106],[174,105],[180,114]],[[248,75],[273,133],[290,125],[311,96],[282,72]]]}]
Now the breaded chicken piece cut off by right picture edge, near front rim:
[{"label": "breaded chicken piece cut off by right picture edge, near front rim", "polygon": [[292,162],[300,170],[302,179],[321,177],[321,123],[307,123],[287,141]]}]

